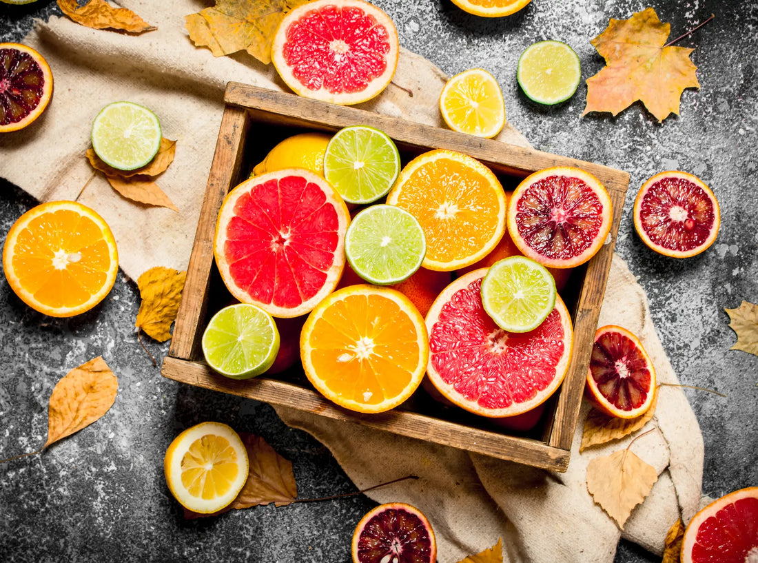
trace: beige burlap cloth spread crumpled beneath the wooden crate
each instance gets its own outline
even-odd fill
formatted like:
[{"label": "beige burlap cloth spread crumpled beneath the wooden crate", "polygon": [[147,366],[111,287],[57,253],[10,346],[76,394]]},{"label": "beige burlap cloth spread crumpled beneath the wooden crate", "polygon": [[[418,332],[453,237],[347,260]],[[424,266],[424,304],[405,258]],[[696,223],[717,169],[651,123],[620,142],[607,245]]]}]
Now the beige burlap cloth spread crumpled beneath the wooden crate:
[{"label": "beige burlap cloth spread crumpled beneath the wooden crate", "polygon": [[[205,2],[123,0],[158,30],[142,36],[89,30],[67,18],[36,23],[25,43],[49,61],[55,95],[36,123],[0,137],[0,177],[42,201],[77,199],[95,208],[114,230],[121,267],[133,279],[149,267],[186,268],[223,110],[224,86],[236,80],[284,89],[272,67],[246,53],[214,58],[195,48],[184,29],[186,14]],[[395,82],[362,107],[418,123],[442,126],[437,98],[446,76],[431,62],[402,51]],[[176,160],[157,183],[179,208],[151,208],[121,197],[84,158],[89,128],[109,102],[130,100],[158,114],[164,136],[177,139]],[[503,141],[528,145],[508,126]],[[659,380],[676,383],[650,319],[647,299],[618,256],[606,290],[600,324],[619,324],[641,337]],[[356,486],[406,474],[420,480],[369,493],[377,502],[418,506],[431,520],[440,563],[459,561],[503,537],[507,561],[556,563],[613,560],[619,536],[662,551],[669,526],[694,515],[700,503],[703,439],[681,389],[663,387],[648,427],[657,431],[632,449],[659,473],[650,496],[634,509],[625,529],[587,493],[591,458],[608,455],[628,439],[578,453],[584,405],[565,474],[471,455],[352,424],[277,408],[283,421],[312,433],[340,462]],[[647,430],[647,427],[646,429]],[[644,431],[643,430],[643,431]]]}]

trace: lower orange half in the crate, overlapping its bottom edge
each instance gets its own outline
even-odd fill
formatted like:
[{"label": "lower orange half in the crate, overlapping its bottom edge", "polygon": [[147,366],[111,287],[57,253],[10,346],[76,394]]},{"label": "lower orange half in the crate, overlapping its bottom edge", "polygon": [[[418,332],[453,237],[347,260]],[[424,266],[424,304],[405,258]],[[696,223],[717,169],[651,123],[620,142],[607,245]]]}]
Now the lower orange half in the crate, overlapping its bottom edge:
[{"label": "lower orange half in the crate, overlapping its bottom edge", "polygon": [[305,375],[327,399],[352,411],[384,412],[424,378],[429,340],[424,317],[395,289],[367,284],[332,293],[300,335]]}]

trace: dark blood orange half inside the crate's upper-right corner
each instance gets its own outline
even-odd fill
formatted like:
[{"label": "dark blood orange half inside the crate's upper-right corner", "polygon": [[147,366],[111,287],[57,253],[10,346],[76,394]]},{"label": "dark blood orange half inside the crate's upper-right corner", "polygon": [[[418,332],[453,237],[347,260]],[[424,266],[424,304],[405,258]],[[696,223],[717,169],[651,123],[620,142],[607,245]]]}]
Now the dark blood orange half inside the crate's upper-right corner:
[{"label": "dark blood orange half inside the crate's upper-right corner", "polygon": [[508,232],[528,258],[575,267],[592,258],[611,228],[611,199],[600,180],[572,167],[526,177],[508,207]]}]

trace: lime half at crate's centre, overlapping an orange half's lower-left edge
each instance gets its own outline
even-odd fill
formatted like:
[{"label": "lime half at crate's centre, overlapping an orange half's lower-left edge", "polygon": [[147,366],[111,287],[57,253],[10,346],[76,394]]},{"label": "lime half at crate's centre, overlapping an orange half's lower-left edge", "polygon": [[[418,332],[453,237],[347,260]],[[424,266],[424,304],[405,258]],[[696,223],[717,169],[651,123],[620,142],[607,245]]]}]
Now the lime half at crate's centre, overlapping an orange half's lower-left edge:
[{"label": "lime half at crate's centre, overlapping an orange half's lower-left edge", "polygon": [[425,254],[421,225],[394,205],[371,205],[347,228],[345,255],[350,267],[378,286],[406,280],[421,267]]}]

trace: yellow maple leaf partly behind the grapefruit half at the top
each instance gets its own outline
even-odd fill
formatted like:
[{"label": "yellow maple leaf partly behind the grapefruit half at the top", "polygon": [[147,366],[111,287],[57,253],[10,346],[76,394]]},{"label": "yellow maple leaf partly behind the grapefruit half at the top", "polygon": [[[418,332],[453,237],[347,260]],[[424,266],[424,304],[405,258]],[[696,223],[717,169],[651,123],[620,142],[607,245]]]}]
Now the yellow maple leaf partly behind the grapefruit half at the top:
[{"label": "yellow maple leaf partly behind the grapefruit half at the top", "polygon": [[218,0],[212,8],[184,17],[189,39],[215,57],[247,51],[271,62],[271,42],[284,14],[308,0]]}]

